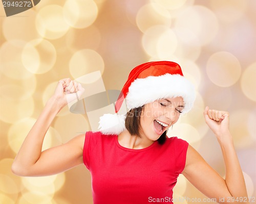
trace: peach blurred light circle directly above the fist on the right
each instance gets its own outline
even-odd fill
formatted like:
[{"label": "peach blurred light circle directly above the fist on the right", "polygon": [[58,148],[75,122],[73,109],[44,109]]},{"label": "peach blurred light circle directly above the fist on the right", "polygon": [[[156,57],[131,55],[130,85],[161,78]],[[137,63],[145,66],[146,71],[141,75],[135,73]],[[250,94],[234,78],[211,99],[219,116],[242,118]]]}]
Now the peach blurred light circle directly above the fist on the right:
[{"label": "peach blurred light circle directly above the fist on the right", "polygon": [[218,52],[209,57],[206,71],[212,83],[220,87],[229,87],[239,80],[241,65],[232,54]]}]

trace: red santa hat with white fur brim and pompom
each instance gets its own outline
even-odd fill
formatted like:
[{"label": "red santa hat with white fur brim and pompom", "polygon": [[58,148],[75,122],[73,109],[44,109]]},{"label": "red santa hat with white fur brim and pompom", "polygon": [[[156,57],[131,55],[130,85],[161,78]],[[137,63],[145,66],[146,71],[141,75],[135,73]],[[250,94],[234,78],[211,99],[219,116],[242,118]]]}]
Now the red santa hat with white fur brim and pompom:
[{"label": "red santa hat with white fur brim and pompom", "polygon": [[135,67],[129,74],[115,104],[115,114],[100,117],[99,130],[106,135],[118,135],[125,130],[126,115],[119,115],[124,99],[128,111],[152,103],[160,98],[181,96],[184,101],[182,114],[194,104],[194,86],[184,78],[181,67],[175,62],[147,62]]}]

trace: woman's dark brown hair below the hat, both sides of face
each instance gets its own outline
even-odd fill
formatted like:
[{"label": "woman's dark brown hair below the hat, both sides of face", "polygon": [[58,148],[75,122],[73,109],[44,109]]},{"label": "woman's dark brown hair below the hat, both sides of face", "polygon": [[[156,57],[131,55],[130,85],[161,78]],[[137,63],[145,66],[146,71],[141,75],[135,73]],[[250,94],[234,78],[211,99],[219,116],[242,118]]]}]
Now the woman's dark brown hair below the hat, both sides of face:
[{"label": "woman's dark brown hair below the hat, both sides of face", "polygon": [[[140,117],[144,111],[144,106],[139,108],[131,109],[125,118],[125,127],[127,131],[133,136],[141,137],[140,135]],[[163,144],[166,140],[166,131],[158,138],[158,143]]]}]

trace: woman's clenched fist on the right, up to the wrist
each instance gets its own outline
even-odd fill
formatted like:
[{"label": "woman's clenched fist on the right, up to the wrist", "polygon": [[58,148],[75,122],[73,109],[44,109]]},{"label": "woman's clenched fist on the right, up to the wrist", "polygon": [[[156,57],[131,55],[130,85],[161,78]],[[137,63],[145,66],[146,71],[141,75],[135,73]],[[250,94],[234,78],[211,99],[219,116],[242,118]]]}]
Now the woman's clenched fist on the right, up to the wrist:
[{"label": "woman's clenched fist on the right, up to the wrist", "polygon": [[218,139],[229,133],[229,113],[227,111],[210,110],[206,107],[204,110],[206,124],[214,132]]}]

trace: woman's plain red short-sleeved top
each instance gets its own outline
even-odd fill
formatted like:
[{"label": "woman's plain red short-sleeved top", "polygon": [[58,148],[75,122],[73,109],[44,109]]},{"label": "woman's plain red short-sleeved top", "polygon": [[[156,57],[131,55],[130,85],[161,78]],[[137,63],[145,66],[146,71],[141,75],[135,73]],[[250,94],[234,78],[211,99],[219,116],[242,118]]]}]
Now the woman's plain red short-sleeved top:
[{"label": "woman's plain red short-sleeved top", "polygon": [[155,141],[143,149],[130,149],[121,146],[117,137],[86,133],[83,162],[91,172],[94,204],[143,204],[154,199],[173,203],[188,143],[172,137],[162,145]]}]

